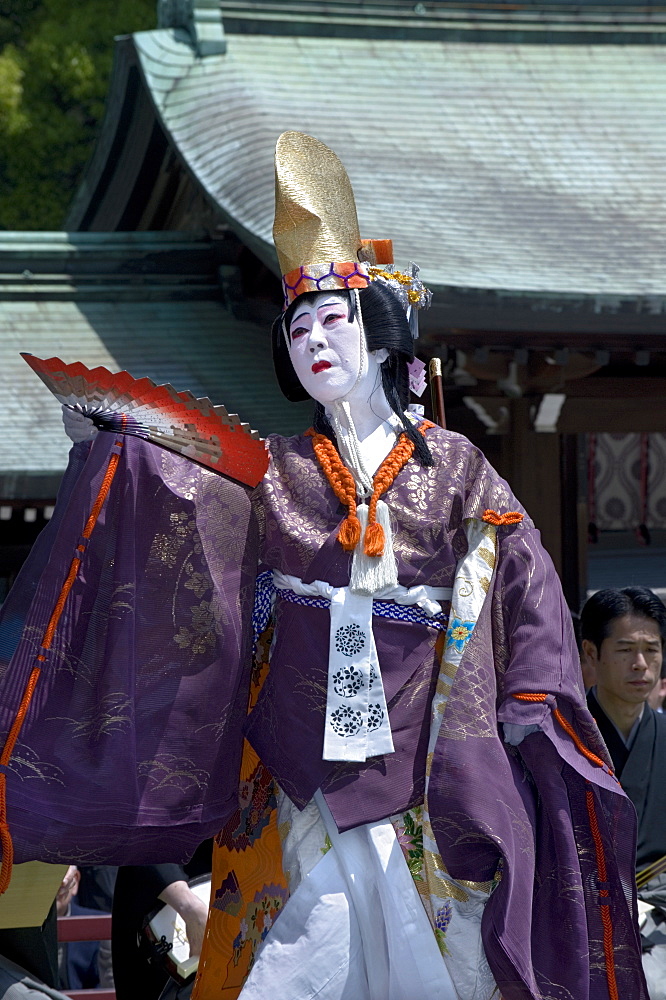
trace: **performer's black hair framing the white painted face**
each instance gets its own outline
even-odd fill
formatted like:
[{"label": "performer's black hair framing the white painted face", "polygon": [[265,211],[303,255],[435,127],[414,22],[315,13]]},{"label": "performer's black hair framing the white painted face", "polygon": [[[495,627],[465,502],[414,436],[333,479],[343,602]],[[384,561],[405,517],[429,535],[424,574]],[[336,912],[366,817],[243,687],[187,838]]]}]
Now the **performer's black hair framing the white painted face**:
[{"label": "performer's black hair framing the white painted face", "polygon": [[[356,299],[345,289],[341,289],[349,302],[349,319],[356,314]],[[337,292],[337,289],[336,289]],[[285,313],[278,316],[273,323],[273,363],[279,386],[292,403],[300,403],[308,399],[308,393],[298,380],[289,356],[289,344],[284,330],[289,330],[289,324],[294,315],[296,304],[302,301],[312,302],[322,292],[305,292],[291,303]],[[382,388],[389,406],[402,421],[407,436],[414,442],[414,450],[421,465],[432,465],[432,455],[425,438],[414,424],[405,416],[409,403],[409,373],[407,365],[414,358],[414,338],[407,317],[393,292],[374,281],[367,288],[359,289],[359,299],[365,329],[365,342],[368,351],[378,351],[384,347],[389,356],[381,364]],[[315,404],[315,430],[334,439],[333,429],[321,403]]]}]

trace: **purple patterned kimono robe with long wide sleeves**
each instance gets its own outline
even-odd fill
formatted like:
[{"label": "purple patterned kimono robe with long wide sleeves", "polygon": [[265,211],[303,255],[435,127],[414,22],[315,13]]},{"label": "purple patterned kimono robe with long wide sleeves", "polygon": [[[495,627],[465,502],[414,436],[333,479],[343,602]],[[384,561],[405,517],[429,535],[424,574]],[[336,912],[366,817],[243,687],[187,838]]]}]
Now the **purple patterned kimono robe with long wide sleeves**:
[{"label": "purple patterned kimono robe with long wide sleeves", "polygon": [[[272,438],[271,465],[252,498],[183,458],[125,440],[10,765],[17,860],[181,859],[233,809],[243,734],[296,804],[321,787],[341,829],[421,801],[438,672],[427,624],[374,621],[394,754],[365,764],[322,760],[328,612],[283,599],[268,680],[245,719],[258,558],[304,582],[349,580],[350,556],[336,539],[345,511],[311,439]],[[90,449],[73,449],[56,515],[8,599],[0,652],[5,663],[16,652],[0,678],[4,731],[113,441],[100,433]],[[437,428],[428,442],[433,468],[410,460],[384,495],[406,587],[450,586],[466,551],[464,519],[520,509],[465,438]],[[608,898],[619,996],[643,1000],[629,888],[633,811],[615,779],[554,721],[556,706],[607,760],[538,532],[527,517],[498,530],[495,573],[433,760],[438,847],[454,878],[502,873],[483,939],[504,1000],[607,1000],[600,904]],[[530,692],[548,700],[514,698]],[[510,748],[498,720],[541,731]]]}]

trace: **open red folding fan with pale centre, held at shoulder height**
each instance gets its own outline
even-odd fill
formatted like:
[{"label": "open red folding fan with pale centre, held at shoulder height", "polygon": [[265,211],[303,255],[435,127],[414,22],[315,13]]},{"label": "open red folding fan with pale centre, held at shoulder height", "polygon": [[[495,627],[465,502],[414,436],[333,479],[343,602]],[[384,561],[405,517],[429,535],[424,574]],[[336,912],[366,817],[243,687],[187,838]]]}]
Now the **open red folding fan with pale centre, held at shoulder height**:
[{"label": "open red folding fan with pale centre, held at shoulder height", "polygon": [[[102,430],[123,431],[177,451],[248,486],[268,467],[265,441],[224,406],[128,372],[23,354],[53,395]],[[124,419],[123,419],[124,418]]]}]

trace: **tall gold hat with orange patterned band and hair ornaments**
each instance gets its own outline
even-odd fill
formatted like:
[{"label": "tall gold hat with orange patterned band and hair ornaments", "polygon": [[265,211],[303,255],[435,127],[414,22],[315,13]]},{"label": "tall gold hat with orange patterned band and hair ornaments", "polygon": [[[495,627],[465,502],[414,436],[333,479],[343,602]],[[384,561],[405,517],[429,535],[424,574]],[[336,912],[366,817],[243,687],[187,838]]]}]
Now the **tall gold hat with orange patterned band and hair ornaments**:
[{"label": "tall gold hat with orange patterned band and hair ornaments", "polygon": [[429,304],[418,268],[393,266],[391,240],[362,240],[354,192],[333,150],[303,132],[283,132],[275,147],[275,222],[285,308],[304,292],[388,284],[405,308]]}]

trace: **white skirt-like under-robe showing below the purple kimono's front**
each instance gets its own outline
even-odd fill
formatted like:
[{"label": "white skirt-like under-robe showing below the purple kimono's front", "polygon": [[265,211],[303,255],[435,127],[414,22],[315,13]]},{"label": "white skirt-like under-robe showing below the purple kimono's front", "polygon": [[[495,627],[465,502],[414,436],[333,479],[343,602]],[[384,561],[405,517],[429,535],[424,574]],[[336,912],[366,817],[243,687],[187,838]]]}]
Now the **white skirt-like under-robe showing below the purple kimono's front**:
[{"label": "white skirt-like under-robe showing below the purple kimono's front", "polygon": [[[324,854],[321,820],[331,845]],[[390,820],[339,833],[317,792],[299,826],[284,860],[300,882],[241,1000],[456,1000]]]}]

